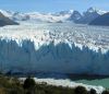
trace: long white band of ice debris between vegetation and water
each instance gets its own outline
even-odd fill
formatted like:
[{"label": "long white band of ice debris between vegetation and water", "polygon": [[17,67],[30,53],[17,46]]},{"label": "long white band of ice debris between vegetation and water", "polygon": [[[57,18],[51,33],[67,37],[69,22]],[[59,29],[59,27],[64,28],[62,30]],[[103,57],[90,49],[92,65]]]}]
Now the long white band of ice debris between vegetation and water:
[{"label": "long white band of ice debris between vegetation and water", "polygon": [[[26,78],[20,78],[20,81],[25,81]],[[86,87],[87,91],[89,91],[90,89],[94,89],[97,91],[97,94],[101,94],[102,91],[105,91],[105,87],[98,85],[98,86],[94,86],[94,85],[86,85],[83,83],[75,83],[73,81],[70,81],[69,79],[65,80],[55,80],[55,79],[37,79],[34,78],[34,80],[36,81],[36,83],[47,83],[48,85],[55,85],[55,86],[63,86],[63,87],[76,87],[76,86],[84,86]]]}]

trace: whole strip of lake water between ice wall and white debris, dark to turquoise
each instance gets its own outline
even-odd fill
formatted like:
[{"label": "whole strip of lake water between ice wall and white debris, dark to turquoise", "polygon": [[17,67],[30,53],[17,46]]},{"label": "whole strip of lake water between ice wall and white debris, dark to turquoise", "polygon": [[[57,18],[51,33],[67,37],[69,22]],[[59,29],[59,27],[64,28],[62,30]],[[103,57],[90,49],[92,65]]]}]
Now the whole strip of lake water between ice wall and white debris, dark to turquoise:
[{"label": "whole strip of lake water between ice wall and white debris, dark to turquoise", "polygon": [[[16,78],[27,78],[27,75],[29,74],[13,74],[13,77],[16,77]],[[56,73],[35,73],[35,74],[32,74],[32,77],[35,77],[35,78],[38,78],[38,79],[70,79],[71,81],[74,81],[74,82],[77,82],[77,83],[84,83],[84,84],[87,84],[87,85],[96,85],[96,86],[104,86],[106,89],[109,89],[109,77],[93,77],[93,75],[64,75],[64,74],[56,74]]]}]

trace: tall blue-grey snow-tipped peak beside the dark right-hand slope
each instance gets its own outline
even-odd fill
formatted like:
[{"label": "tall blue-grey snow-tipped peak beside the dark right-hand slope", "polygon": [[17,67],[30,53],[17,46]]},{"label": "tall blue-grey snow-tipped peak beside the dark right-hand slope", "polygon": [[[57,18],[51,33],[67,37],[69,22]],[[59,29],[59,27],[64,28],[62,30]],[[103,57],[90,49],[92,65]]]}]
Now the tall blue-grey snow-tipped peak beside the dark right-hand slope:
[{"label": "tall blue-grey snow-tipped peak beside the dark right-hand slope", "polygon": [[89,8],[87,9],[86,12],[83,13],[82,17],[77,20],[75,23],[81,23],[81,24],[88,24],[90,23],[94,19],[98,17],[99,15],[102,15],[106,13],[105,11],[100,11],[95,8]]}]

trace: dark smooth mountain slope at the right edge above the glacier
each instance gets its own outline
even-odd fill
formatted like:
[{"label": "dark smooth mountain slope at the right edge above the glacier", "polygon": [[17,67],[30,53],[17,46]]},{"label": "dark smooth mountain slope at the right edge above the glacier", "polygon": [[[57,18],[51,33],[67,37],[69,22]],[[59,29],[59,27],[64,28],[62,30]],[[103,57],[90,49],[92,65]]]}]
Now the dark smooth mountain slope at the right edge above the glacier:
[{"label": "dark smooth mountain slope at the right edge above the glacier", "polygon": [[105,13],[89,23],[89,25],[104,25],[109,26],[109,12]]}]

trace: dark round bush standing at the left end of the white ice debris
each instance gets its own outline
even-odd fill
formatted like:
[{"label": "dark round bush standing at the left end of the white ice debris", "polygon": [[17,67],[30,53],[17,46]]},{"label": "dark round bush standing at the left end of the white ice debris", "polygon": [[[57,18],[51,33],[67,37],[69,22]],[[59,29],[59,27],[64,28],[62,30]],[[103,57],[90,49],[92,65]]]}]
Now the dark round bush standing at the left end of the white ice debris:
[{"label": "dark round bush standing at the left end of the white ice debris", "polygon": [[28,89],[34,89],[35,85],[36,85],[35,80],[28,77],[28,78],[24,81],[23,87],[24,87],[25,90],[28,90]]}]

